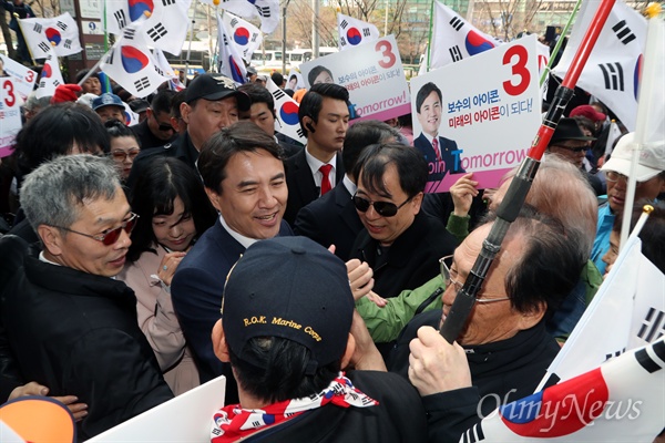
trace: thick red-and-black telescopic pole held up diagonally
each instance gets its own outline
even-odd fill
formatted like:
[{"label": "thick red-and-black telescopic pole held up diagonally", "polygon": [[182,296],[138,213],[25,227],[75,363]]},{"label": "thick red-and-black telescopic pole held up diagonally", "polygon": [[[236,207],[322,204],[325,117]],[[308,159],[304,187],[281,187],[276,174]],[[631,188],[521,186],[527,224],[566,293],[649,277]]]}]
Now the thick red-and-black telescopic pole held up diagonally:
[{"label": "thick red-and-black telescopic pole held up diagonally", "polygon": [[535,135],[529,150],[528,156],[524,158],[518,174],[513,178],[510,187],[503,198],[503,202],[497,209],[497,220],[492,225],[492,229],[482,244],[480,255],[473,264],[473,268],[464,281],[464,286],[460,289],[450,308],[450,312],[441,327],[441,336],[452,343],[464,327],[471,309],[475,303],[475,296],[480,292],[482,284],[488,275],[488,270],[494,260],[494,257],[501,249],[501,243],[505,237],[505,233],[510,224],[514,222],[524,204],[526,194],[531,188],[531,183],[535,177],[540,159],[552,138],[552,134],[556,128],[559,120],[563,115],[565,106],[573,96],[573,90],[577,83],[577,79],[582,73],[582,69],[586,64],[586,60],[595,45],[596,40],[607,21],[607,17],[612,11],[615,0],[602,0],[591,25],[571,62],[571,66],[563,79],[561,85],[556,89],[552,105],[548,114],[543,119],[543,123]]}]

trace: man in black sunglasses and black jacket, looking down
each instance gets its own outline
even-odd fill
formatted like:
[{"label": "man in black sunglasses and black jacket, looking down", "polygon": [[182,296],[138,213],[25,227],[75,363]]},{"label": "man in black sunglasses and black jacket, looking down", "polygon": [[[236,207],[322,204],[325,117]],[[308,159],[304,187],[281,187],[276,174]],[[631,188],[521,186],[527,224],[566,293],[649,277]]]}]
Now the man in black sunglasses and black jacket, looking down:
[{"label": "man in black sunglasses and black jacket, looking down", "polygon": [[428,169],[417,150],[398,143],[367,147],[354,171],[354,205],[365,226],[351,258],[374,269],[374,290],[391,298],[439,272],[439,258],[457,240],[443,224],[420,210]]}]

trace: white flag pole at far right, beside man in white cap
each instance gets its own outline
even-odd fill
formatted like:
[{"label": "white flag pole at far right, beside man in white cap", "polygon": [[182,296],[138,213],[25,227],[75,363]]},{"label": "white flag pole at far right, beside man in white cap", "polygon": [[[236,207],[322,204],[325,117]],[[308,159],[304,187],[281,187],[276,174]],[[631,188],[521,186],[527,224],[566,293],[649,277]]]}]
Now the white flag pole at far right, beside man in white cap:
[{"label": "white flag pole at far right, beside man in white cap", "polygon": [[[644,65],[640,76],[640,92],[637,100],[637,124],[635,127],[635,146],[631,158],[631,173],[628,174],[626,199],[623,208],[623,219],[621,227],[621,236],[618,248],[623,247],[628,239],[628,231],[631,230],[631,217],[633,216],[633,205],[635,203],[635,188],[637,187],[637,181],[635,175],[637,174],[637,163],[640,152],[644,150],[647,142],[646,134],[649,131],[647,124],[649,123],[649,114],[654,109],[658,107],[658,102],[663,100],[661,94],[654,93],[658,91],[654,82],[662,82],[662,73],[658,75],[658,63],[662,63],[658,59],[663,58],[663,22],[656,18],[648,20],[646,30],[646,45],[644,49]],[[656,96],[654,96],[656,95]],[[662,105],[662,102],[659,103]],[[648,141],[651,142],[651,141]]]}]

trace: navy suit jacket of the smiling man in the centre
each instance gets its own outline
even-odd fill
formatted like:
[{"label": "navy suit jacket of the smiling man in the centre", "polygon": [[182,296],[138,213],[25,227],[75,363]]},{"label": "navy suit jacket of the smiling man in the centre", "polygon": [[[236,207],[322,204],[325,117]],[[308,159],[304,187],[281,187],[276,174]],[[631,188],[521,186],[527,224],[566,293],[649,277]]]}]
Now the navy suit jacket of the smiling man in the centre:
[{"label": "navy suit jacket of the smiling man in the centre", "polygon": [[[290,227],[284,220],[278,235],[293,235]],[[185,339],[194,352],[201,382],[205,383],[218,375],[226,375],[227,402],[225,404],[229,404],[228,383],[234,379],[231,368],[223,365],[213,352],[211,332],[213,326],[219,320],[226,276],[244,251],[245,247],[224,229],[217,218],[215,225],[201,236],[180,262],[171,282],[173,307]],[[237,396],[235,400],[237,401]]]}]

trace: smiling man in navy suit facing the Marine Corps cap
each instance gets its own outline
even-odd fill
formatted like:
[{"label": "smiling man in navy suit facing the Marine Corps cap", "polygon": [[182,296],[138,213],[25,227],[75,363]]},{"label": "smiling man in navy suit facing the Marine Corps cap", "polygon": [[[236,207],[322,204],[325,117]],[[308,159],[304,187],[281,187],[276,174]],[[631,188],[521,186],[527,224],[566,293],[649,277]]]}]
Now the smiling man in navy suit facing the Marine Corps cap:
[{"label": "smiling man in navy suit facing the Marine Corps cap", "polygon": [[[229,269],[255,241],[293,235],[282,219],[288,189],[279,154],[274,137],[252,122],[238,122],[213,135],[198,157],[205,192],[219,218],[178,265],[171,293],[202,382],[222,374],[233,380],[211,342]],[[235,387],[227,385],[226,392],[227,402],[237,401]]]}]

